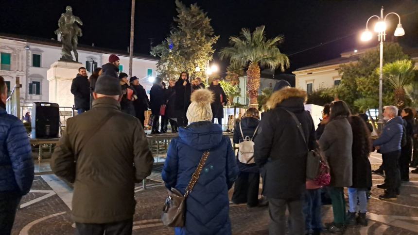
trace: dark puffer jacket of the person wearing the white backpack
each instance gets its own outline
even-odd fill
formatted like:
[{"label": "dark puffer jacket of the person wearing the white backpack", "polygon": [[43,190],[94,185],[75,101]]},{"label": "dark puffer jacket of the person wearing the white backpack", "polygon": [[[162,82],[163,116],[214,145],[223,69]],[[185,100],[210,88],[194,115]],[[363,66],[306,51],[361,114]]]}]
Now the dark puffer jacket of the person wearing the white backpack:
[{"label": "dark puffer jacket of the person wearing the white backpack", "polygon": [[[244,137],[249,136],[250,138],[253,138],[254,131],[256,130],[257,126],[259,125],[260,120],[258,120],[257,118],[253,118],[253,117],[245,117],[241,120],[241,122],[239,122],[237,125],[235,125],[233,141],[236,144],[239,144],[240,142],[242,142],[244,140],[243,135],[241,134],[241,130],[240,130],[240,123],[241,123],[241,128],[243,129]],[[257,136],[257,134],[254,136],[253,141],[255,140],[256,136]],[[238,155],[237,155],[237,163],[238,163],[238,167],[240,168],[241,172],[250,172],[250,173],[258,173],[259,172],[259,168],[255,163],[253,163],[253,164],[241,163],[238,160]]]}]

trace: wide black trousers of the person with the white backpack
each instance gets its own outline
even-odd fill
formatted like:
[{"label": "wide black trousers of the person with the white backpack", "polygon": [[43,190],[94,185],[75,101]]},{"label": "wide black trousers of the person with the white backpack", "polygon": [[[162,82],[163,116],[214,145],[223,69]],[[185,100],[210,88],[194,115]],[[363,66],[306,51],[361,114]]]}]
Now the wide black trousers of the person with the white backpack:
[{"label": "wide black trousers of the person with the white backpack", "polygon": [[260,173],[240,172],[235,181],[232,202],[256,206],[259,203]]}]

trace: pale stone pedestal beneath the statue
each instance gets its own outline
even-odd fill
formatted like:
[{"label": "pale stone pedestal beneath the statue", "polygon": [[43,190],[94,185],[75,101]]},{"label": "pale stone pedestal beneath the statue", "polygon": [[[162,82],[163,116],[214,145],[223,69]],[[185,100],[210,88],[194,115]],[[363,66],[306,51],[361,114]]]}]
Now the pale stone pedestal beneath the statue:
[{"label": "pale stone pedestal beneath the statue", "polygon": [[82,63],[57,61],[48,69],[49,102],[57,103],[60,107],[72,107],[74,95],[71,94],[72,79],[78,74]]}]

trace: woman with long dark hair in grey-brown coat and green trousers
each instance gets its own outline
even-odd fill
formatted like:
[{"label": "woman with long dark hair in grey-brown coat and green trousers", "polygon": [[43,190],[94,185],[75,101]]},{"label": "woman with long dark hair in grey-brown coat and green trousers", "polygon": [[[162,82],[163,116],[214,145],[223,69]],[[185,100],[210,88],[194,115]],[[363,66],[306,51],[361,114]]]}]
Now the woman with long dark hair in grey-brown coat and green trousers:
[{"label": "woman with long dark hair in grey-brown coat and green trousers", "polygon": [[344,101],[334,101],[330,106],[330,122],[325,126],[319,145],[330,165],[329,186],[334,221],[326,223],[331,233],[343,233],[346,222],[344,187],[352,186],[353,132],[348,123],[350,110]]}]

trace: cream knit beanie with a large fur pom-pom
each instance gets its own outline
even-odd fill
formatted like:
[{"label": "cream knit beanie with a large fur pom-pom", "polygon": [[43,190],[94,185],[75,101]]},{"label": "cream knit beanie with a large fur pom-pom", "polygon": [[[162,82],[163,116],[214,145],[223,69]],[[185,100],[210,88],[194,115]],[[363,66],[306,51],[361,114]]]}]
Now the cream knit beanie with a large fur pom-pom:
[{"label": "cream knit beanie with a large fur pom-pom", "polygon": [[186,117],[189,123],[212,121],[212,109],[210,103],[213,102],[213,93],[209,90],[200,89],[192,93],[190,97],[192,103],[187,109]]}]

